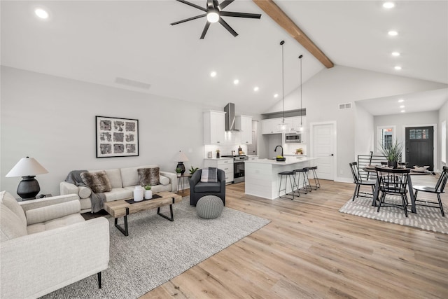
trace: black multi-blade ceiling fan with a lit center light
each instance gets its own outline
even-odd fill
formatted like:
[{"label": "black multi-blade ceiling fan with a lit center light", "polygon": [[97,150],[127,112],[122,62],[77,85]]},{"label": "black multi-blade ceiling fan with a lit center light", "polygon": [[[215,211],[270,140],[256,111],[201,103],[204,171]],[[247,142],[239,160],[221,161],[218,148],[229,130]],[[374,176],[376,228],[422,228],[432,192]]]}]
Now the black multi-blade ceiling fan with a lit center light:
[{"label": "black multi-blade ceiling fan with a lit center light", "polygon": [[230,32],[233,36],[237,36],[238,35],[237,32],[235,32],[235,30],[232,29],[232,27],[230,27],[228,23],[225,22],[225,20],[223,20],[223,17],[237,17],[237,18],[251,18],[251,19],[261,18],[261,15],[258,13],[234,13],[231,11],[223,11],[223,9],[226,6],[228,6],[235,0],[224,0],[221,2],[221,4],[218,4],[217,0],[207,0],[207,8],[197,6],[196,4],[184,0],[176,0],[176,1],[182,2],[183,4],[187,4],[189,6],[193,6],[194,8],[197,8],[205,12],[202,15],[196,15],[193,18],[188,18],[185,20],[181,20],[179,22],[171,23],[171,25],[178,25],[183,22],[188,22],[191,20],[196,20],[207,16],[207,23],[205,24],[204,30],[202,31],[201,39],[204,39],[205,34],[207,34],[207,30],[209,30],[210,23],[214,22],[220,22],[225,29],[228,29],[228,32]]}]

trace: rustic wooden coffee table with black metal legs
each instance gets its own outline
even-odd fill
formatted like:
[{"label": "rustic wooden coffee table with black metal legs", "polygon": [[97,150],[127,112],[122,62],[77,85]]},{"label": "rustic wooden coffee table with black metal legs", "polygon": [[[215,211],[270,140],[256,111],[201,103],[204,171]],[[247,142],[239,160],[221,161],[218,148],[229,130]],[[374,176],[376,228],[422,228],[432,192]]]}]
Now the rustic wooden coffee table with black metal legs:
[{"label": "rustic wooden coffee table with black metal legs", "polygon": [[[154,198],[154,195],[159,195],[160,198]],[[152,200],[142,200],[141,202],[134,202],[132,204],[126,202],[126,200],[116,200],[113,202],[104,202],[104,209],[115,218],[115,227],[123,232],[123,235],[128,236],[129,231],[127,229],[127,215],[138,213],[139,211],[146,211],[148,209],[157,208],[157,214],[163,218],[167,218],[169,221],[174,221],[173,216],[173,204],[182,201],[182,196],[176,193],[168,191],[162,191],[154,193]],[[132,198],[130,198],[132,200]],[[170,216],[166,216],[160,213],[160,207],[169,205]],[[118,225],[118,218],[123,217],[125,228]]]}]

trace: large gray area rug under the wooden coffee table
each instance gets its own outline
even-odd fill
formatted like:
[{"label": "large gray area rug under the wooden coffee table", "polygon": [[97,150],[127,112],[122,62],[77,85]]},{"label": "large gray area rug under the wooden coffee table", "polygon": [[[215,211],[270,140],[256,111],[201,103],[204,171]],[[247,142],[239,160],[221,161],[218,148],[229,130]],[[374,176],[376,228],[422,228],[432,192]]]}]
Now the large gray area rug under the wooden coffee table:
[{"label": "large gray area rug under the wooden coffee table", "polygon": [[[128,237],[109,217],[111,260],[102,272],[102,288],[92,275],[43,298],[138,298],[270,222],[227,207],[216,219],[202,219],[190,197],[173,210],[173,222],[157,209],[128,216]],[[169,214],[169,207],[161,212]]]}]

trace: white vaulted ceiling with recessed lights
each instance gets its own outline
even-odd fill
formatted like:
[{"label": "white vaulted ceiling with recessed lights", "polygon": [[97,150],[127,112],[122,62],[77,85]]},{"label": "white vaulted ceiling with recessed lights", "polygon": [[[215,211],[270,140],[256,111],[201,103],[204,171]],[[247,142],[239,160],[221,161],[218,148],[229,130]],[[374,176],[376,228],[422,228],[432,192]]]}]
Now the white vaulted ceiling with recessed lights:
[{"label": "white vaulted ceiling with recessed lights", "polygon": [[[225,18],[239,36],[212,24],[201,40],[204,18],[169,25],[202,13],[178,1],[1,1],[1,64],[263,113],[279,101],[275,93],[281,98],[280,41],[286,41],[285,95],[300,84],[299,55],[303,82],[325,66],[257,2],[225,8],[262,14],[260,20]],[[448,84],[447,1],[395,1],[391,9],[383,1],[274,2],[335,65]],[[36,7],[50,18],[36,18]],[[390,30],[398,36],[388,36]],[[439,106],[442,97],[434,97]]]}]

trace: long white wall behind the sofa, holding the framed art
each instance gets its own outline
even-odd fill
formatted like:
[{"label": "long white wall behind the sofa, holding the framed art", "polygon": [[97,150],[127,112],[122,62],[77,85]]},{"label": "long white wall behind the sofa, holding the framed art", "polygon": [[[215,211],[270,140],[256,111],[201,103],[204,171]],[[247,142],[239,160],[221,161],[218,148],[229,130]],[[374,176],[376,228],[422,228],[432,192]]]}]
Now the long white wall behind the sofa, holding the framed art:
[{"label": "long white wall behind the sofa, holding the framed art", "polygon": [[[21,178],[5,175],[26,156],[48,169],[36,179],[52,195],[74,169],[158,164],[174,172],[179,150],[190,160],[186,168],[202,167],[202,112],[209,109],[223,107],[1,67],[0,190],[16,194]],[[95,116],[138,119],[139,156],[96,158]]]}]

